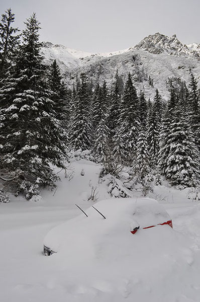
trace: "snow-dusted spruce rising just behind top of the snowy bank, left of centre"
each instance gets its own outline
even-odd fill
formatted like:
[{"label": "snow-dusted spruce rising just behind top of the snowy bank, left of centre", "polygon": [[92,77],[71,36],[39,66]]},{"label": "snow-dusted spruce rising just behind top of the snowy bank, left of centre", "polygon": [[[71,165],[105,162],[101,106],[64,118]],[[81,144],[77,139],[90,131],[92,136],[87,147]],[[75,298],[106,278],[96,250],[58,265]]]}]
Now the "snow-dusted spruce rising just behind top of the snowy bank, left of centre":
[{"label": "snow-dusted spruce rising just behind top of the snowy bank, left of centre", "polygon": [[87,93],[87,84],[84,75],[81,75],[76,99],[73,119],[71,121],[69,140],[74,150],[88,150],[92,145],[91,105]]}]

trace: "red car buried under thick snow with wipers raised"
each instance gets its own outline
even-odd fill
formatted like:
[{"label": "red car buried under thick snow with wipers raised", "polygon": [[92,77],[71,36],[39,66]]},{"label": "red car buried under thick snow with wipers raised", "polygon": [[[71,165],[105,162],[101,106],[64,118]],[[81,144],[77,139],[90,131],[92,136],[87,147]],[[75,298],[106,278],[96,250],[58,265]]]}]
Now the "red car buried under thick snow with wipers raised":
[{"label": "red car buried under thick snow with wipers raised", "polygon": [[[172,227],[171,219],[164,207],[156,200],[149,198],[119,198],[99,201],[95,208],[102,212],[106,219],[93,207],[83,213],[56,226],[44,239],[44,254],[49,256],[58,251],[79,249],[81,245],[91,247],[96,238],[115,237],[118,240],[131,236],[137,230],[148,232],[153,226]],[[168,225],[167,225],[168,224]],[[130,233],[131,232],[131,233]],[[87,250],[87,248],[86,248]],[[92,248],[91,248],[92,250]],[[73,253],[73,252],[72,252]]]}]

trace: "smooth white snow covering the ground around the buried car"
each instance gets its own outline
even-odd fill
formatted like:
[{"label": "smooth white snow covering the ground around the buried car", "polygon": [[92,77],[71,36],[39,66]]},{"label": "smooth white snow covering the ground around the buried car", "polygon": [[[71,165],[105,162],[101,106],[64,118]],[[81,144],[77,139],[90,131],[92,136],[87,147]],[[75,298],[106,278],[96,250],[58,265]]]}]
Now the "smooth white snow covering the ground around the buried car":
[{"label": "smooth white snow covering the ground around the buried car", "polygon": [[84,209],[93,204],[88,201],[92,187],[98,200],[110,198],[106,184],[98,183],[99,169],[88,161],[74,162],[68,178],[60,172],[57,190],[45,190],[42,200],[18,197],[0,204],[0,301],[199,302],[200,205],[186,198],[187,190],[154,188],[173,230],[157,226],[127,233],[123,242],[112,231],[112,240],[106,234],[95,239],[104,243],[95,253],[83,249],[80,241],[74,254],[69,246],[71,259],[63,252],[43,255],[46,234],[83,215],[74,204]]}]

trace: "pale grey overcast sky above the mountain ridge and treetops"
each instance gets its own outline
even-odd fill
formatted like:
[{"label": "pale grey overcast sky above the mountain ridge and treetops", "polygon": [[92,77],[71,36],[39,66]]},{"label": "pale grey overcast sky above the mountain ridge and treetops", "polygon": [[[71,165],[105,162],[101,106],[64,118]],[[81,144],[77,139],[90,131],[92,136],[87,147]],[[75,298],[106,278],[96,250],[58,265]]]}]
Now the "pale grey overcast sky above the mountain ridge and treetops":
[{"label": "pale grey overcast sky above the mountain ridge and treetops", "polygon": [[1,0],[1,14],[10,7],[20,29],[36,12],[42,41],[79,50],[125,49],[156,32],[200,43],[200,0]]}]

